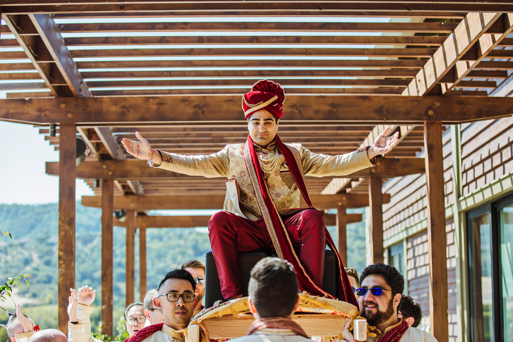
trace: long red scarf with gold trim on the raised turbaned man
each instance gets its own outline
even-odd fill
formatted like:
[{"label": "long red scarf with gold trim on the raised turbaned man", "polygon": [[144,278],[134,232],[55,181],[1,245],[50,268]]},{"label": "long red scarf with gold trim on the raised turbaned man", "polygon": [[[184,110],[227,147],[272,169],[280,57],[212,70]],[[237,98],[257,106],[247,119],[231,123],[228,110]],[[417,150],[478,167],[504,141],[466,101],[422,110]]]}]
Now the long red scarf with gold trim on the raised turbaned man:
[{"label": "long red scarf with gold trim on the raised turbaned man", "polygon": [[[275,139],[278,150],[285,157],[285,162],[287,163],[294,181],[298,185],[298,188],[303,195],[303,198],[308,204],[308,207],[313,208],[310,196],[308,195],[308,188],[306,186],[306,180],[303,174],[303,165],[301,163],[301,156],[299,152],[293,147],[289,148],[287,145],[283,144],[278,135],[275,137]],[[294,266],[295,272],[298,275],[299,289],[301,291],[307,291],[312,295],[335,299],[331,294],[323,291],[320,287],[315,285],[301,264],[299,256],[295,253],[287,229],[283,225],[280,214],[278,213],[278,209],[274,205],[274,202],[270,196],[267,183],[264,180],[264,173],[260,167],[257,152],[255,152],[253,147],[253,140],[251,139],[250,135],[248,135],[246,145],[244,146],[244,160],[246,162],[246,169],[248,170],[248,174],[251,179],[251,184],[253,185],[254,193],[257,196],[257,202],[259,203],[262,217],[264,218],[267,230],[271,236],[274,249],[276,250],[276,253],[279,257],[289,261]],[[260,194],[262,194],[263,198],[260,197]],[[340,259],[339,252],[337,251],[337,248],[335,247],[335,244],[333,243],[333,240],[331,239],[331,236],[329,235],[326,228],[325,232],[326,242],[329,248],[337,255],[337,287],[339,290],[338,299],[347,301],[348,303],[358,307],[358,302],[351,290],[349,278],[347,277],[344,265]]]}]

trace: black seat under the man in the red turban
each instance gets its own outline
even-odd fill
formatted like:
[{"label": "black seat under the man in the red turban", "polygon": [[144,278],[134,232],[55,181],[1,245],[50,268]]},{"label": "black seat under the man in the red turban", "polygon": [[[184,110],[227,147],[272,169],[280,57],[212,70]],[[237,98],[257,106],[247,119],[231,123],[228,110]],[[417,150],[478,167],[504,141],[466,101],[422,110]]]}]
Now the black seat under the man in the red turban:
[{"label": "black seat under the man in the red turban", "polygon": [[[270,256],[264,251],[252,251],[239,253],[239,260],[241,263],[242,280],[244,284],[243,296],[248,295],[249,274],[255,264],[260,259]],[[337,262],[336,255],[330,250],[326,250],[324,256],[324,276],[323,276],[323,290],[338,297],[336,274]],[[221,294],[221,281],[219,279],[218,268],[215,265],[214,256],[212,251],[206,254],[206,270],[205,270],[205,306],[207,308],[214,305],[218,300],[224,300]]]}]

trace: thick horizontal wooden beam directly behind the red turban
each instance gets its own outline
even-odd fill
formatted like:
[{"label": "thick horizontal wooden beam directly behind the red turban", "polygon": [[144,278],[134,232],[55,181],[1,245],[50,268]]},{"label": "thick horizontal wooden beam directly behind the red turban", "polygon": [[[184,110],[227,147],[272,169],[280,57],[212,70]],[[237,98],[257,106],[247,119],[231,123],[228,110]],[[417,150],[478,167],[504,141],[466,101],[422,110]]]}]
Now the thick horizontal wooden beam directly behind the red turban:
[{"label": "thick horizontal wooden beam directly behind the red turban", "polygon": [[[113,124],[245,123],[239,96],[67,97],[0,100],[0,120],[28,123]],[[130,110],[127,110],[129,108]],[[169,108],[174,108],[170,111]],[[219,108],[223,108],[219,112]],[[511,97],[478,96],[287,96],[287,122],[445,123],[509,116]],[[152,115],[142,115],[151,112]],[[216,113],[213,117],[212,113]],[[215,119],[213,121],[212,119]]]}]

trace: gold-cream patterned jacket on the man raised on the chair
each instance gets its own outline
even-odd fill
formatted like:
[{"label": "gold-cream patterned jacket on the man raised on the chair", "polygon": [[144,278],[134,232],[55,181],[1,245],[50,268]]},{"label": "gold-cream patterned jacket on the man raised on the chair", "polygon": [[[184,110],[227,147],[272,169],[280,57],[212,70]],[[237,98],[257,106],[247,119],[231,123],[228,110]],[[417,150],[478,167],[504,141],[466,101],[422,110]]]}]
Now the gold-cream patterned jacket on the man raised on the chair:
[{"label": "gold-cream patterned jacket on the man raised on the chair", "polygon": [[[286,145],[295,148],[300,153],[303,171],[306,176],[344,176],[371,167],[376,160],[373,158],[373,163],[370,162],[366,153],[367,148],[332,156],[312,153],[301,144]],[[272,159],[278,153],[278,167],[272,173],[265,173],[265,180],[277,209],[281,212],[299,208],[300,190],[285,163],[285,157],[277,151],[276,142],[270,143],[265,148],[259,145],[254,145],[254,148],[264,160]],[[159,151],[162,154],[162,165],[153,164],[152,166],[191,176],[236,179],[241,211],[249,219],[256,220],[261,218],[262,214],[246,169],[243,149],[244,144],[233,144],[226,145],[222,151],[209,155],[180,155]],[[264,161],[264,163],[266,162]],[[271,162],[269,161],[268,164],[271,164]]]}]

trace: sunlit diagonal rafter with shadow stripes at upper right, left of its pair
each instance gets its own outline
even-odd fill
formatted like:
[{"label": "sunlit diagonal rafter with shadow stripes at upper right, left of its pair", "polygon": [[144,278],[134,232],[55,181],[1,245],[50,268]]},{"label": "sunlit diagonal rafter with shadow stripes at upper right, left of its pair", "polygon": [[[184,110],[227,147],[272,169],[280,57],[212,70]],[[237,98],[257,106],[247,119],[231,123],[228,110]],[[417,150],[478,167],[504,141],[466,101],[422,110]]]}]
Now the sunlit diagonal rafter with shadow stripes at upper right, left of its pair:
[{"label": "sunlit diagonal rafter with shadow stripes at upper right, left of its pair", "polygon": [[444,44],[437,49],[425,66],[413,78],[403,95],[428,94],[447,72],[470,50],[478,39],[501,16],[501,13],[468,13]]}]

